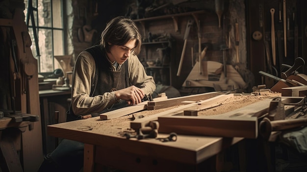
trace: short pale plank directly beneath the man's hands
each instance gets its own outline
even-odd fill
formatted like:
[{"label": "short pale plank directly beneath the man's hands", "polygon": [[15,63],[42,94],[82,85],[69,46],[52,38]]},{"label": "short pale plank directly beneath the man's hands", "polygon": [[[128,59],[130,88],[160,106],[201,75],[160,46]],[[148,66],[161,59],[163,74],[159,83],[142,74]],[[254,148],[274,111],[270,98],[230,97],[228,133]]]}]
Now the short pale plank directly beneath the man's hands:
[{"label": "short pale plank directly beneath the man's hands", "polygon": [[[164,100],[164,99],[167,99],[167,96],[153,98],[153,100]],[[114,118],[123,117],[125,115],[129,115],[129,114],[141,111],[141,110],[145,110],[145,109],[147,109],[148,102],[149,101],[143,101],[143,102],[136,104],[136,105],[133,105],[133,106],[123,107],[123,108],[120,108],[120,109],[116,109],[116,110],[113,110],[113,111],[102,113],[102,114],[100,114],[100,119],[110,120],[110,119],[114,119]]]}]

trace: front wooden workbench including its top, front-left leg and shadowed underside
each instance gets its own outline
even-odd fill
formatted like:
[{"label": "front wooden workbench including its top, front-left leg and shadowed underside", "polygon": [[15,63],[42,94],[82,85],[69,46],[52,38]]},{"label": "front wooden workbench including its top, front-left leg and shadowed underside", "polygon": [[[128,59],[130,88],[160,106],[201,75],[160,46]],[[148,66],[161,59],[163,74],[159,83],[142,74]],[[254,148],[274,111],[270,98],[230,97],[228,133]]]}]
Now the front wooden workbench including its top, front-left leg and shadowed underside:
[{"label": "front wooden workbench including its top, front-left leg and shadowed underside", "polygon": [[[85,144],[85,172],[93,171],[97,164],[140,172],[198,171],[205,160],[243,140],[190,135],[178,135],[176,142],[126,139],[121,133],[129,128],[130,117],[112,119],[116,125],[112,120],[104,121],[99,117],[53,124],[48,126],[48,134]],[[158,134],[158,137],[167,137],[167,134]],[[214,166],[214,163],[209,165]]]}]

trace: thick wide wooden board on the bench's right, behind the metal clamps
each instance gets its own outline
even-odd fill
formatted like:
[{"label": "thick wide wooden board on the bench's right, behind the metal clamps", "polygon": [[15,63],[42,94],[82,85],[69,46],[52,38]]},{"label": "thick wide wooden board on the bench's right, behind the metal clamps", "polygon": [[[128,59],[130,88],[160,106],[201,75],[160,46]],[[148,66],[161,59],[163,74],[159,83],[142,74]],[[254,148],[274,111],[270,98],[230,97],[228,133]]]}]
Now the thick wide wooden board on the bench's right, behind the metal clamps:
[{"label": "thick wide wooden board on the bench's right, behind the metal clamps", "polygon": [[257,138],[258,117],[267,113],[271,99],[265,99],[243,108],[212,116],[158,117],[159,132],[219,137]]}]

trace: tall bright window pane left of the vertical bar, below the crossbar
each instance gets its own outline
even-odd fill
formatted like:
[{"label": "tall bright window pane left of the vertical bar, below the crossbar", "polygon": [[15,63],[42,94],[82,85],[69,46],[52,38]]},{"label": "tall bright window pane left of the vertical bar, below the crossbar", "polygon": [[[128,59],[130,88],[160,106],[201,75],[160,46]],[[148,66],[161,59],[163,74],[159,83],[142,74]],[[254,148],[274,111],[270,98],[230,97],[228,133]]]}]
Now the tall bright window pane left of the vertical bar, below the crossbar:
[{"label": "tall bright window pane left of the vertical bar, below the crossbar", "polygon": [[40,29],[38,32],[40,49],[40,72],[53,71],[52,34],[50,29]]}]

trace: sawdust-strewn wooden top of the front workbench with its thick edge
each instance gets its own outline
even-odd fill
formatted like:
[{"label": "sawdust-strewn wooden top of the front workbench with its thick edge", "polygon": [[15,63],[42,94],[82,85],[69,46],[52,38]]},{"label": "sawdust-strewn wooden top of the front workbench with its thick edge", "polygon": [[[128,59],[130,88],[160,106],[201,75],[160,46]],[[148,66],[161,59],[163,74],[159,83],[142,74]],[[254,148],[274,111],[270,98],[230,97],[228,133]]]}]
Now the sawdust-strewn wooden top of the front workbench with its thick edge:
[{"label": "sawdust-strewn wooden top of the front workbench with its thick edge", "polygon": [[[118,147],[123,151],[140,155],[163,157],[182,163],[197,164],[217,154],[222,147],[229,147],[243,138],[222,138],[178,135],[176,142],[161,142],[156,139],[130,140],[121,136],[129,128],[129,116],[103,121],[100,117],[58,123],[48,126],[48,134],[98,145],[101,147]],[[114,124],[116,120],[116,125]],[[167,137],[167,134],[158,134]],[[165,152],[168,152],[167,154]]]}]

